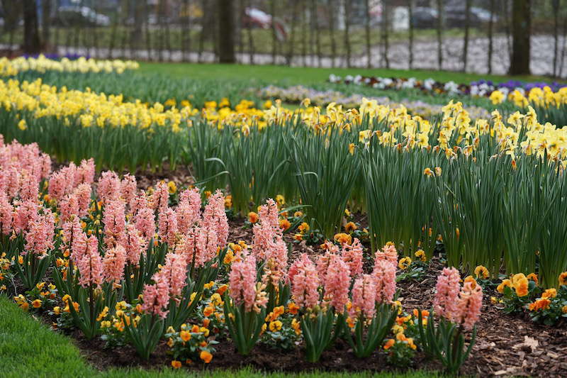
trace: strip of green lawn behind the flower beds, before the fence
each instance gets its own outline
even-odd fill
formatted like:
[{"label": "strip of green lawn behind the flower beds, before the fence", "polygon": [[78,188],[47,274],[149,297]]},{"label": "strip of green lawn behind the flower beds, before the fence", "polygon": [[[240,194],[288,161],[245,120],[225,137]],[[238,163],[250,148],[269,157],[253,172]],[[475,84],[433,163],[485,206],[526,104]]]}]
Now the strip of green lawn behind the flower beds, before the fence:
[{"label": "strip of green lawn behind the flower beds, before the fence", "polygon": [[[152,63],[140,62],[140,73],[162,73],[171,77],[187,77],[191,79],[247,79],[262,82],[283,84],[320,84],[329,79],[330,74],[344,77],[347,74],[362,74],[380,77],[416,77],[417,79],[436,79],[440,82],[453,80],[457,83],[468,83],[478,79],[491,79],[504,82],[512,79],[509,76],[466,74],[462,72],[435,70],[366,70],[362,68],[315,68],[287,67],[279,65],[219,65],[196,63]],[[550,81],[546,77],[513,77],[525,81]]]}]

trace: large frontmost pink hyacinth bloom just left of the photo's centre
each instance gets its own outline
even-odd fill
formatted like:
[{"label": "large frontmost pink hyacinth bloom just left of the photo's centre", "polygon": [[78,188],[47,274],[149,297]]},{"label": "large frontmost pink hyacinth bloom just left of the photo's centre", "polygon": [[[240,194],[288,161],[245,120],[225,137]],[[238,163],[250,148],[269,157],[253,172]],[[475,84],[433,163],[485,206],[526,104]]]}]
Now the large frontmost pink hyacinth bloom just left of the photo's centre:
[{"label": "large frontmost pink hyacinth bloom just left of the photo's centre", "polygon": [[232,262],[228,274],[230,297],[235,306],[244,304],[245,312],[252,311],[256,302],[256,258],[246,250]]}]

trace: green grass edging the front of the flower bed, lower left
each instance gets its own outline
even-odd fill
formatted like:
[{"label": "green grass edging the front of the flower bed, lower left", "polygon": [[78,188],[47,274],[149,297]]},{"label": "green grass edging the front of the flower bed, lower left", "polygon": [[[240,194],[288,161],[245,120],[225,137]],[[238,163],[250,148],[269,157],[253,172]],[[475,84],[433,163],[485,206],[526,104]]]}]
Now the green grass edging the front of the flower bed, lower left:
[{"label": "green grass edging the front of the flower bed, lower left", "polygon": [[[235,356],[237,358],[237,356]],[[111,369],[99,372],[80,355],[79,349],[64,335],[55,333],[47,326],[24,313],[13,302],[0,295],[0,377],[205,377],[205,378],[363,378],[363,377],[438,377],[437,374],[410,372],[405,374],[262,374],[251,369],[189,373],[163,367],[162,370]]]}]

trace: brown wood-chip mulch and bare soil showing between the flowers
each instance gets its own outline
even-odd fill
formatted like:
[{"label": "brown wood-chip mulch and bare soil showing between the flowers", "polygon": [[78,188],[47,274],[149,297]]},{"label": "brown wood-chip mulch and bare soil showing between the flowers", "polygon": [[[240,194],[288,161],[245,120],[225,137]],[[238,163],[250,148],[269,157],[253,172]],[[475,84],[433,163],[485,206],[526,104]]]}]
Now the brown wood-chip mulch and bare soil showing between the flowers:
[{"label": "brown wood-chip mulch and bare soil showing between the flowers", "polygon": [[[173,176],[172,176],[173,173]],[[140,187],[148,187],[160,179],[174,179],[178,184],[186,186],[191,183],[189,171],[178,168],[167,174],[137,173]],[[356,215],[355,219],[364,226],[365,219]],[[251,228],[245,228],[245,220],[235,218],[230,220],[230,241],[245,240],[252,242]],[[286,242],[293,241],[293,234],[285,235]],[[367,246],[366,246],[367,247]],[[310,255],[320,253],[318,245],[309,246],[305,243],[293,243],[291,260],[301,252]],[[413,308],[430,308],[434,286],[443,265],[434,257],[429,268],[420,279],[408,279],[400,282],[400,300],[405,311]],[[486,290],[484,305],[477,328],[476,345],[471,356],[461,368],[461,374],[478,377],[567,377],[567,322],[556,326],[540,326],[522,315],[507,315],[498,308],[499,305],[490,303],[490,296],[497,296],[494,290]],[[43,316],[43,321],[52,323],[52,319]],[[74,343],[82,351],[82,355],[98,369],[110,367],[159,367],[170,366],[172,357],[168,355],[169,348],[163,341],[150,360],[137,357],[134,348],[125,345],[113,350],[105,349],[100,339],[86,340],[79,330],[71,334]],[[195,362],[184,365],[184,369],[237,369],[251,366],[257,369],[282,372],[304,372],[310,370],[322,371],[391,371],[400,369],[425,369],[441,371],[442,366],[434,360],[428,360],[422,352],[417,352],[412,364],[405,367],[388,365],[383,351],[376,351],[365,359],[354,357],[349,346],[338,340],[333,348],[323,353],[320,362],[305,362],[303,350],[298,346],[295,350],[283,351],[270,349],[266,345],[257,345],[249,356],[238,355],[234,345],[227,340],[215,345],[216,352],[208,365]]]}]

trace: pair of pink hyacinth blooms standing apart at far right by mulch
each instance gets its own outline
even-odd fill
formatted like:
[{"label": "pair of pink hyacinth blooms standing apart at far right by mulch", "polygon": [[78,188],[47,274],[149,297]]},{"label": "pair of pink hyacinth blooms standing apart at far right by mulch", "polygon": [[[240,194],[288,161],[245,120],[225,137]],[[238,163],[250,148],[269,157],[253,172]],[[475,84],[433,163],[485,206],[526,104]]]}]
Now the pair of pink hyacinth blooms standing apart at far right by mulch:
[{"label": "pair of pink hyacinth blooms standing apart at far right by mulch", "polygon": [[443,269],[437,277],[433,308],[437,316],[471,330],[481,316],[483,289],[474,279],[466,279],[461,287],[460,280],[454,267]]}]

